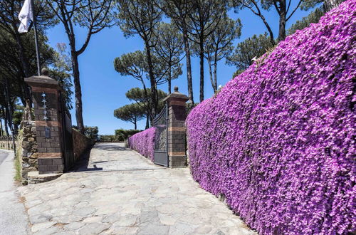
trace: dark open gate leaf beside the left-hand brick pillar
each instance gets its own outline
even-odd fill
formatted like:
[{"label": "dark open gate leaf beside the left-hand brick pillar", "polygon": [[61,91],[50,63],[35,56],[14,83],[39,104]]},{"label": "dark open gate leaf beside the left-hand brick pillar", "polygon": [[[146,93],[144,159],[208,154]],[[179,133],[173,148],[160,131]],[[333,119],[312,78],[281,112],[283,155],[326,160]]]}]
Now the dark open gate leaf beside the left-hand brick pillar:
[{"label": "dark open gate leaf beside the left-hand brick pillar", "polygon": [[73,134],[72,134],[72,118],[68,109],[66,108],[66,103],[63,100],[63,95],[61,98],[61,119],[62,119],[62,142],[63,142],[63,160],[64,160],[64,171],[68,171],[74,165],[74,154],[73,154]]}]

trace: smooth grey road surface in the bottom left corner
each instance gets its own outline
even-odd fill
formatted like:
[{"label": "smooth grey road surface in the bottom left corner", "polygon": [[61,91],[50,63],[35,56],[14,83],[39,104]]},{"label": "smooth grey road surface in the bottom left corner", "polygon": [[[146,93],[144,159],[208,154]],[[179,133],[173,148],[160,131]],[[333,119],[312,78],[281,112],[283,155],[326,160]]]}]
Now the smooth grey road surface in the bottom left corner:
[{"label": "smooth grey road surface in the bottom left corner", "polygon": [[14,183],[14,154],[0,150],[0,234],[27,233],[28,217]]}]

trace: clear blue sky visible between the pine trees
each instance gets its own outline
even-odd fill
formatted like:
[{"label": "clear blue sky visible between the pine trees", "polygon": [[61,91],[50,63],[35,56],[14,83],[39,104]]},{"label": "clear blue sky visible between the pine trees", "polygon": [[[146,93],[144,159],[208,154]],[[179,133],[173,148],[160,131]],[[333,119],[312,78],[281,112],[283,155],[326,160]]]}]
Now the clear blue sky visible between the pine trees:
[{"label": "clear blue sky visible between the pine trees", "polygon": [[[296,11],[291,19],[287,22],[286,28],[289,28],[295,21],[307,16],[310,11]],[[275,37],[278,36],[278,14],[273,9],[269,12],[264,12],[266,19],[273,29]],[[229,15],[232,19],[241,19],[242,31],[241,37],[234,41],[234,46],[240,41],[261,34],[266,31],[261,19],[255,16],[251,11],[239,11],[239,14],[230,11]],[[78,47],[82,45],[85,39],[85,29],[75,28]],[[66,43],[68,38],[61,24],[48,30],[48,39],[51,46],[56,47],[57,43]],[[80,84],[83,93],[83,120],[88,126],[98,126],[100,135],[113,135],[114,131],[119,128],[133,129],[134,125],[131,122],[118,120],[113,116],[113,111],[122,105],[127,105],[130,100],[127,100],[125,93],[130,88],[140,87],[141,84],[135,78],[123,77],[117,73],[113,66],[114,58],[121,56],[124,53],[129,53],[137,50],[143,50],[143,42],[141,38],[135,36],[125,38],[120,31],[119,26],[105,28],[103,31],[92,36],[88,48],[79,56],[80,67]],[[184,63],[185,59],[183,60]],[[206,62],[205,62],[206,66]],[[181,93],[187,94],[187,73],[185,63],[182,67],[183,74],[177,79],[172,80],[172,88],[174,85],[179,87]],[[224,60],[218,64],[217,79],[218,85],[225,85],[231,80],[232,74],[236,71],[234,66],[227,66]],[[210,98],[213,95],[209,80],[209,71],[206,66],[205,71],[205,88],[204,97]],[[199,101],[199,59],[192,57],[192,76],[193,76],[193,92],[194,101]],[[147,80],[147,85],[149,81]],[[160,85],[159,89],[167,92],[167,84]],[[74,97],[73,97],[74,103]],[[73,125],[75,125],[75,109],[70,111],[72,114]],[[142,120],[137,125],[138,129],[145,128],[145,120]]]}]

